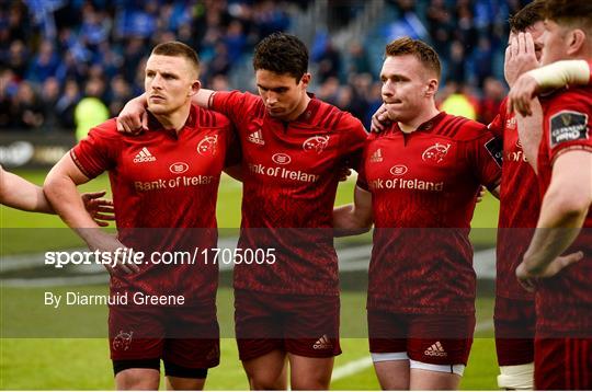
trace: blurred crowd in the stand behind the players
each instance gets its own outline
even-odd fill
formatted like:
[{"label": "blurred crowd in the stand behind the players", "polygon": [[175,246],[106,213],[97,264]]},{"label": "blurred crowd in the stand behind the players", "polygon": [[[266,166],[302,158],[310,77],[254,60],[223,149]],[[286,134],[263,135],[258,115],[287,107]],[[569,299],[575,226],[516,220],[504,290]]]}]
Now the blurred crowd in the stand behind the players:
[{"label": "blurred crowd in the stand behind the players", "polygon": [[[502,81],[508,16],[528,1],[388,0],[392,20],[339,50],[332,31],[367,3],[328,1],[329,33],[316,34],[311,69],[317,96],[364,124],[380,105],[368,45],[410,35],[443,59],[440,101],[488,123],[505,93]],[[293,14],[314,0],[21,0],[0,8],[0,131],[73,131],[82,118],[116,115],[143,91],[143,69],[156,44],[179,39],[200,54],[205,87],[228,90],[234,67],[263,36],[289,31]],[[298,32],[295,32],[298,34]],[[379,46],[379,45],[378,45]],[[383,49],[379,48],[378,51]],[[378,59],[380,60],[380,59]],[[375,61],[379,62],[379,61]],[[443,102],[445,104],[446,102]]]}]

